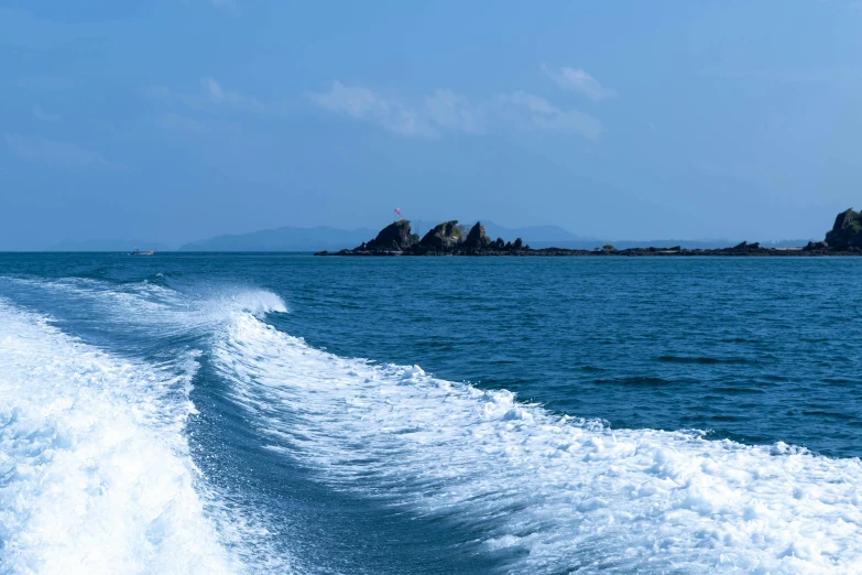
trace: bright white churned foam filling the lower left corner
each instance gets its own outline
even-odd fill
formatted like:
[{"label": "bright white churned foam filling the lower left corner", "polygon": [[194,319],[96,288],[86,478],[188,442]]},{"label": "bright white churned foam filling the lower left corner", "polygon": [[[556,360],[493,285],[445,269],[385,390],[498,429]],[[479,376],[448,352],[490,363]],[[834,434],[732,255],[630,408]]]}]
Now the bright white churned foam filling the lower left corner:
[{"label": "bright white churned foam filling the lower left corner", "polygon": [[182,435],[190,367],[111,357],[0,300],[0,571],[229,573]]}]

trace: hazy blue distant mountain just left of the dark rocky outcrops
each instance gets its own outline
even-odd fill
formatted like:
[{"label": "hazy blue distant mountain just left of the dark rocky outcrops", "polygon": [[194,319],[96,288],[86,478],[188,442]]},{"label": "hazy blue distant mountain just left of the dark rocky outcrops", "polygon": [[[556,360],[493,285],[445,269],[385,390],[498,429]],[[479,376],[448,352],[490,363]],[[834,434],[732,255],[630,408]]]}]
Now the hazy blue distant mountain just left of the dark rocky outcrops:
[{"label": "hazy blue distant mountain just left of the dark rocky outcrops", "polygon": [[251,234],[216,236],[193,241],[179,247],[179,251],[320,251],[340,250],[359,246],[377,236],[377,231],[360,229],[336,229],[328,226],[316,228],[284,227],[264,229]]}]

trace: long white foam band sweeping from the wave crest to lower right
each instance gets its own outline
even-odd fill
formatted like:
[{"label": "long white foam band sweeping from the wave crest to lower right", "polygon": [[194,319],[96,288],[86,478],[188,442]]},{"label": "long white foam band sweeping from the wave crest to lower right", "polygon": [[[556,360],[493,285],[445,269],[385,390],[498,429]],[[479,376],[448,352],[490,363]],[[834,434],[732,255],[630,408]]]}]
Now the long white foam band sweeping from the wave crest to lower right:
[{"label": "long white foam band sweeping from the wave crest to lower right", "polygon": [[512,571],[862,573],[862,465],[610,430],[306,346],[248,314],[214,349],[272,448],[331,485],[472,524]]}]

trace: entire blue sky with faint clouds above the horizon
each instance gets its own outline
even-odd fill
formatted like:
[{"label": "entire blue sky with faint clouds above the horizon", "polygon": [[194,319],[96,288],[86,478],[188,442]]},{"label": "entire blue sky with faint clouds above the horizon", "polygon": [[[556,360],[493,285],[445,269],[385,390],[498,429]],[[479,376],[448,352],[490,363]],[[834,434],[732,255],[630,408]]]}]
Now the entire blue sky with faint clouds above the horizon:
[{"label": "entire blue sky with faint clouds above the horizon", "polygon": [[855,0],[0,0],[0,250],[395,207],[821,238],[862,208],[861,54]]}]

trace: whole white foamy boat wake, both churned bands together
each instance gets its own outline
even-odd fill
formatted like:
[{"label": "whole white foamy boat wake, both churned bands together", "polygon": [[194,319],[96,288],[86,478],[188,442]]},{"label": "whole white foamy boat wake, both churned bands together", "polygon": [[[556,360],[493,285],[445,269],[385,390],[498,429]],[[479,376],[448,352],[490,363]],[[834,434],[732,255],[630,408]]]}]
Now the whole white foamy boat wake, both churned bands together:
[{"label": "whole white foamy boat wake, both churned bands together", "polygon": [[201,352],[276,457],[330,489],[456,525],[505,572],[862,572],[859,459],[612,430],[415,366],[335,356],[266,323],[287,307],[265,291],[39,288],[87,301],[101,322],[207,344],[139,362],[0,300],[0,397],[11,398],[0,403],[0,572],[228,573],[268,553],[254,540],[264,535],[232,529],[241,513],[221,510],[189,456]]}]

